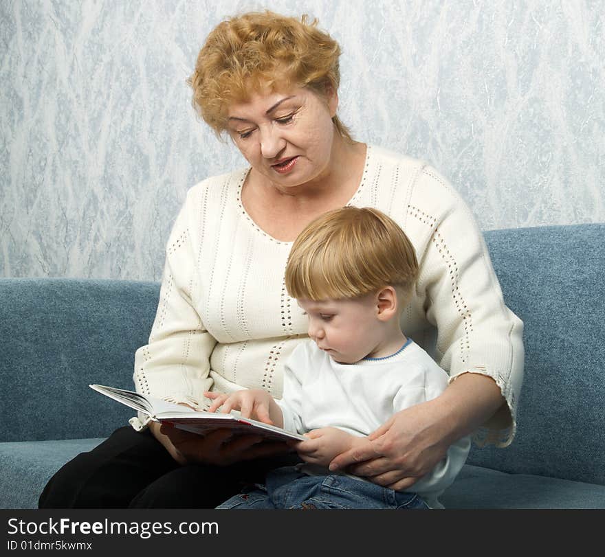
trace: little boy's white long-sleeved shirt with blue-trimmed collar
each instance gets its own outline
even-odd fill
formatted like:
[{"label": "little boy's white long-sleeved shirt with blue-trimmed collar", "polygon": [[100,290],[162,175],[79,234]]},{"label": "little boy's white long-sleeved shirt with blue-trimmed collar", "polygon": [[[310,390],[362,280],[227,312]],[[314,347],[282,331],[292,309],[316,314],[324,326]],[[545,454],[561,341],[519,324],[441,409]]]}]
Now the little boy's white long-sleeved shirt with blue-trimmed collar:
[{"label": "little boy's white long-sleeved shirt with blue-trimmed collar", "polygon": [[[354,364],[334,361],[312,341],[298,345],[284,366],[284,428],[307,433],[338,427],[351,435],[369,435],[400,410],[439,396],[448,374],[408,339],[392,356]],[[470,437],[450,446],[447,455],[407,491],[418,493],[431,508],[442,508],[439,495],[462,468]],[[302,468],[316,473],[316,467]],[[326,470],[327,474],[330,472]]]}]

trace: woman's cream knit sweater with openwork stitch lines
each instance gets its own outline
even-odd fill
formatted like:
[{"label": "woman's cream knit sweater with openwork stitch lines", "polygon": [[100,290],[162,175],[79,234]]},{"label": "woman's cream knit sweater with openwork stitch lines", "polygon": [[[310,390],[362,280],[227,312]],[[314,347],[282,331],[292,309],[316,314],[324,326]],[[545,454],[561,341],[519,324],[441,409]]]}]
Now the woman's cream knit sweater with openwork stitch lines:
[{"label": "woman's cream knit sweater with openwork stitch lines", "polygon": [[[205,390],[260,387],[281,398],[283,363],[306,338],[307,317],[284,286],[292,242],[266,234],[243,208],[248,171],[211,177],[188,192],[166,247],[149,342],[135,354],[142,394],[201,408]],[[349,204],[376,207],[406,231],[420,273],[401,328],[450,380],[463,372],[496,380],[513,420],[476,441],[509,444],[522,382],[522,322],[503,302],[470,210],[426,163],[375,146],[367,148]],[[146,421],[131,424],[140,429]]]}]

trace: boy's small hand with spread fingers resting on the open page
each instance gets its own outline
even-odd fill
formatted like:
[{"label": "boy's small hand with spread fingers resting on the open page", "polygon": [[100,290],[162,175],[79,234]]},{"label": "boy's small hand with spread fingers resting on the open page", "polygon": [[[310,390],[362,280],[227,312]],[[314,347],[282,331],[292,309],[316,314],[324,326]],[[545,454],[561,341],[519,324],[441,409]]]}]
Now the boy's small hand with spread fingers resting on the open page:
[{"label": "boy's small hand with spread fingers resting on the open page", "polygon": [[215,412],[222,406],[223,414],[239,410],[242,418],[252,418],[265,424],[283,427],[281,409],[273,397],[263,389],[241,389],[231,394],[206,391],[204,396],[214,400],[208,408],[209,412]]}]

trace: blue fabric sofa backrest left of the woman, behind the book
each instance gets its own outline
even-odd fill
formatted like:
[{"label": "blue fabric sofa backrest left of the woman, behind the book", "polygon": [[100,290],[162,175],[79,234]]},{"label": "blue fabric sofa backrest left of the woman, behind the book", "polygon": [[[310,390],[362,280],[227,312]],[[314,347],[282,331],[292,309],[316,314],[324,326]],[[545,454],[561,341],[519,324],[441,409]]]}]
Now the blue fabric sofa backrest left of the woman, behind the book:
[{"label": "blue fabric sofa backrest left of the woman, behind the book", "polygon": [[106,437],[133,411],[88,387],[132,389],[152,282],[0,279],[0,441]]}]

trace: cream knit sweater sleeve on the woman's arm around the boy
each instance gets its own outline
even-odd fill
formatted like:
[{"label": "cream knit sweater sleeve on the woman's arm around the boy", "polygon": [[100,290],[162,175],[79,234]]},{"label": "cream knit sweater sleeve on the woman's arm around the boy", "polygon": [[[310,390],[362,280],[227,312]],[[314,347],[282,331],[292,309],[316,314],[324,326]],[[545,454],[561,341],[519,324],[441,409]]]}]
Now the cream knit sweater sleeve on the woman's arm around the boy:
[{"label": "cream knit sweater sleeve on the woman's arm around the boy", "polygon": [[437,362],[450,382],[466,372],[494,379],[507,408],[474,440],[507,446],[523,377],[523,323],[505,304],[483,235],[461,197],[430,167],[423,168],[415,190],[408,214],[426,237],[417,293],[437,329]]}]

